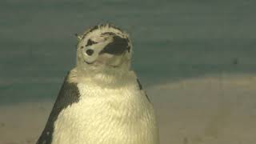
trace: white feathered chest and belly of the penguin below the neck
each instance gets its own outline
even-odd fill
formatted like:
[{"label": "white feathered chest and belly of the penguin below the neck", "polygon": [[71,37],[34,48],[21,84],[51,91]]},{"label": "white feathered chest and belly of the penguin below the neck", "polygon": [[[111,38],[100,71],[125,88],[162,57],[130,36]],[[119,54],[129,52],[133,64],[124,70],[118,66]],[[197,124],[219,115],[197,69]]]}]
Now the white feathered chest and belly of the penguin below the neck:
[{"label": "white feathered chest and belly of the penguin below the neck", "polygon": [[102,89],[78,84],[80,101],[54,124],[54,144],[156,144],[154,109],[134,86]]}]

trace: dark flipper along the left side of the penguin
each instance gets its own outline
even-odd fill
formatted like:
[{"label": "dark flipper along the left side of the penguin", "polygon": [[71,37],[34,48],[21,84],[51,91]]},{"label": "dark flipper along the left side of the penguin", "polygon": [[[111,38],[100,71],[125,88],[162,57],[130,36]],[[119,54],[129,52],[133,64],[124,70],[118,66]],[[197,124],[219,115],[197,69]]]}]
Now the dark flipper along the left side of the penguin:
[{"label": "dark flipper along the left side of the penguin", "polygon": [[77,83],[69,82],[70,72],[67,74],[62,88],[58,93],[58,98],[54,103],[54,107],[50,112],[50,116],[46,122],[46,126],[42,131],[41,136],[38,138],[37,144],[51,144],[54,133],[54,122],[58,118],[58,114],[65,109],[67,106],[72,105],[75,102],[79,101],[79,92]]}]

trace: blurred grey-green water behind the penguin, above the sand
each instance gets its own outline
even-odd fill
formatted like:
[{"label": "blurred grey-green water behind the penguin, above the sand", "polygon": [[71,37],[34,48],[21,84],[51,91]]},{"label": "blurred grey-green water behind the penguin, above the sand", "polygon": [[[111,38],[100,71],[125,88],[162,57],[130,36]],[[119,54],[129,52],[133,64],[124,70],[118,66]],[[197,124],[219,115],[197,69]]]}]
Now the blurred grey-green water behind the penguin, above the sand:
[{"label": "blurred grey-green water behind the penguin, above the sand", "polygon": [[55,98],[75,63],[75,33],[112,22],[131,34],[144,85],[254,74],[254,1],[2,1],[0,102]]}]

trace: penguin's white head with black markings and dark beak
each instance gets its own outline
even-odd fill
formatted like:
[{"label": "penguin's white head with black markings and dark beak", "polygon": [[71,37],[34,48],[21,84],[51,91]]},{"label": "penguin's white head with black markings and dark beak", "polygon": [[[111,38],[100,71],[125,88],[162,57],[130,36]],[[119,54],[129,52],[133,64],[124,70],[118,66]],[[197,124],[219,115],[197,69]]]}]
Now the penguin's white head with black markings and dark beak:
[{"label": "penguin's white head with black markings and dark beak", "polygon": [[78,36],[77,66],[82,70],[129,70],[132,46],[126,32],[110,24]]}]

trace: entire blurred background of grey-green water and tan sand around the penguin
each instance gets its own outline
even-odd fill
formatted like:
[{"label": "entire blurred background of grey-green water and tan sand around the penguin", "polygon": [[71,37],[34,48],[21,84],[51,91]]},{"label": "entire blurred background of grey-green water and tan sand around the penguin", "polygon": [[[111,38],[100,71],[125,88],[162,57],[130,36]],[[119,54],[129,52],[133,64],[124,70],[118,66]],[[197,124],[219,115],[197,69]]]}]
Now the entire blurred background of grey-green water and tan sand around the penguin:
[{"label": "entire blurred background of grey-green water and tan sand around the penguin", "polygon": [[110,22],[134,44],[162,144],[256,142],[253,0],[2,0],[0,143],[34,143],[75,64],[74,34]]}]

